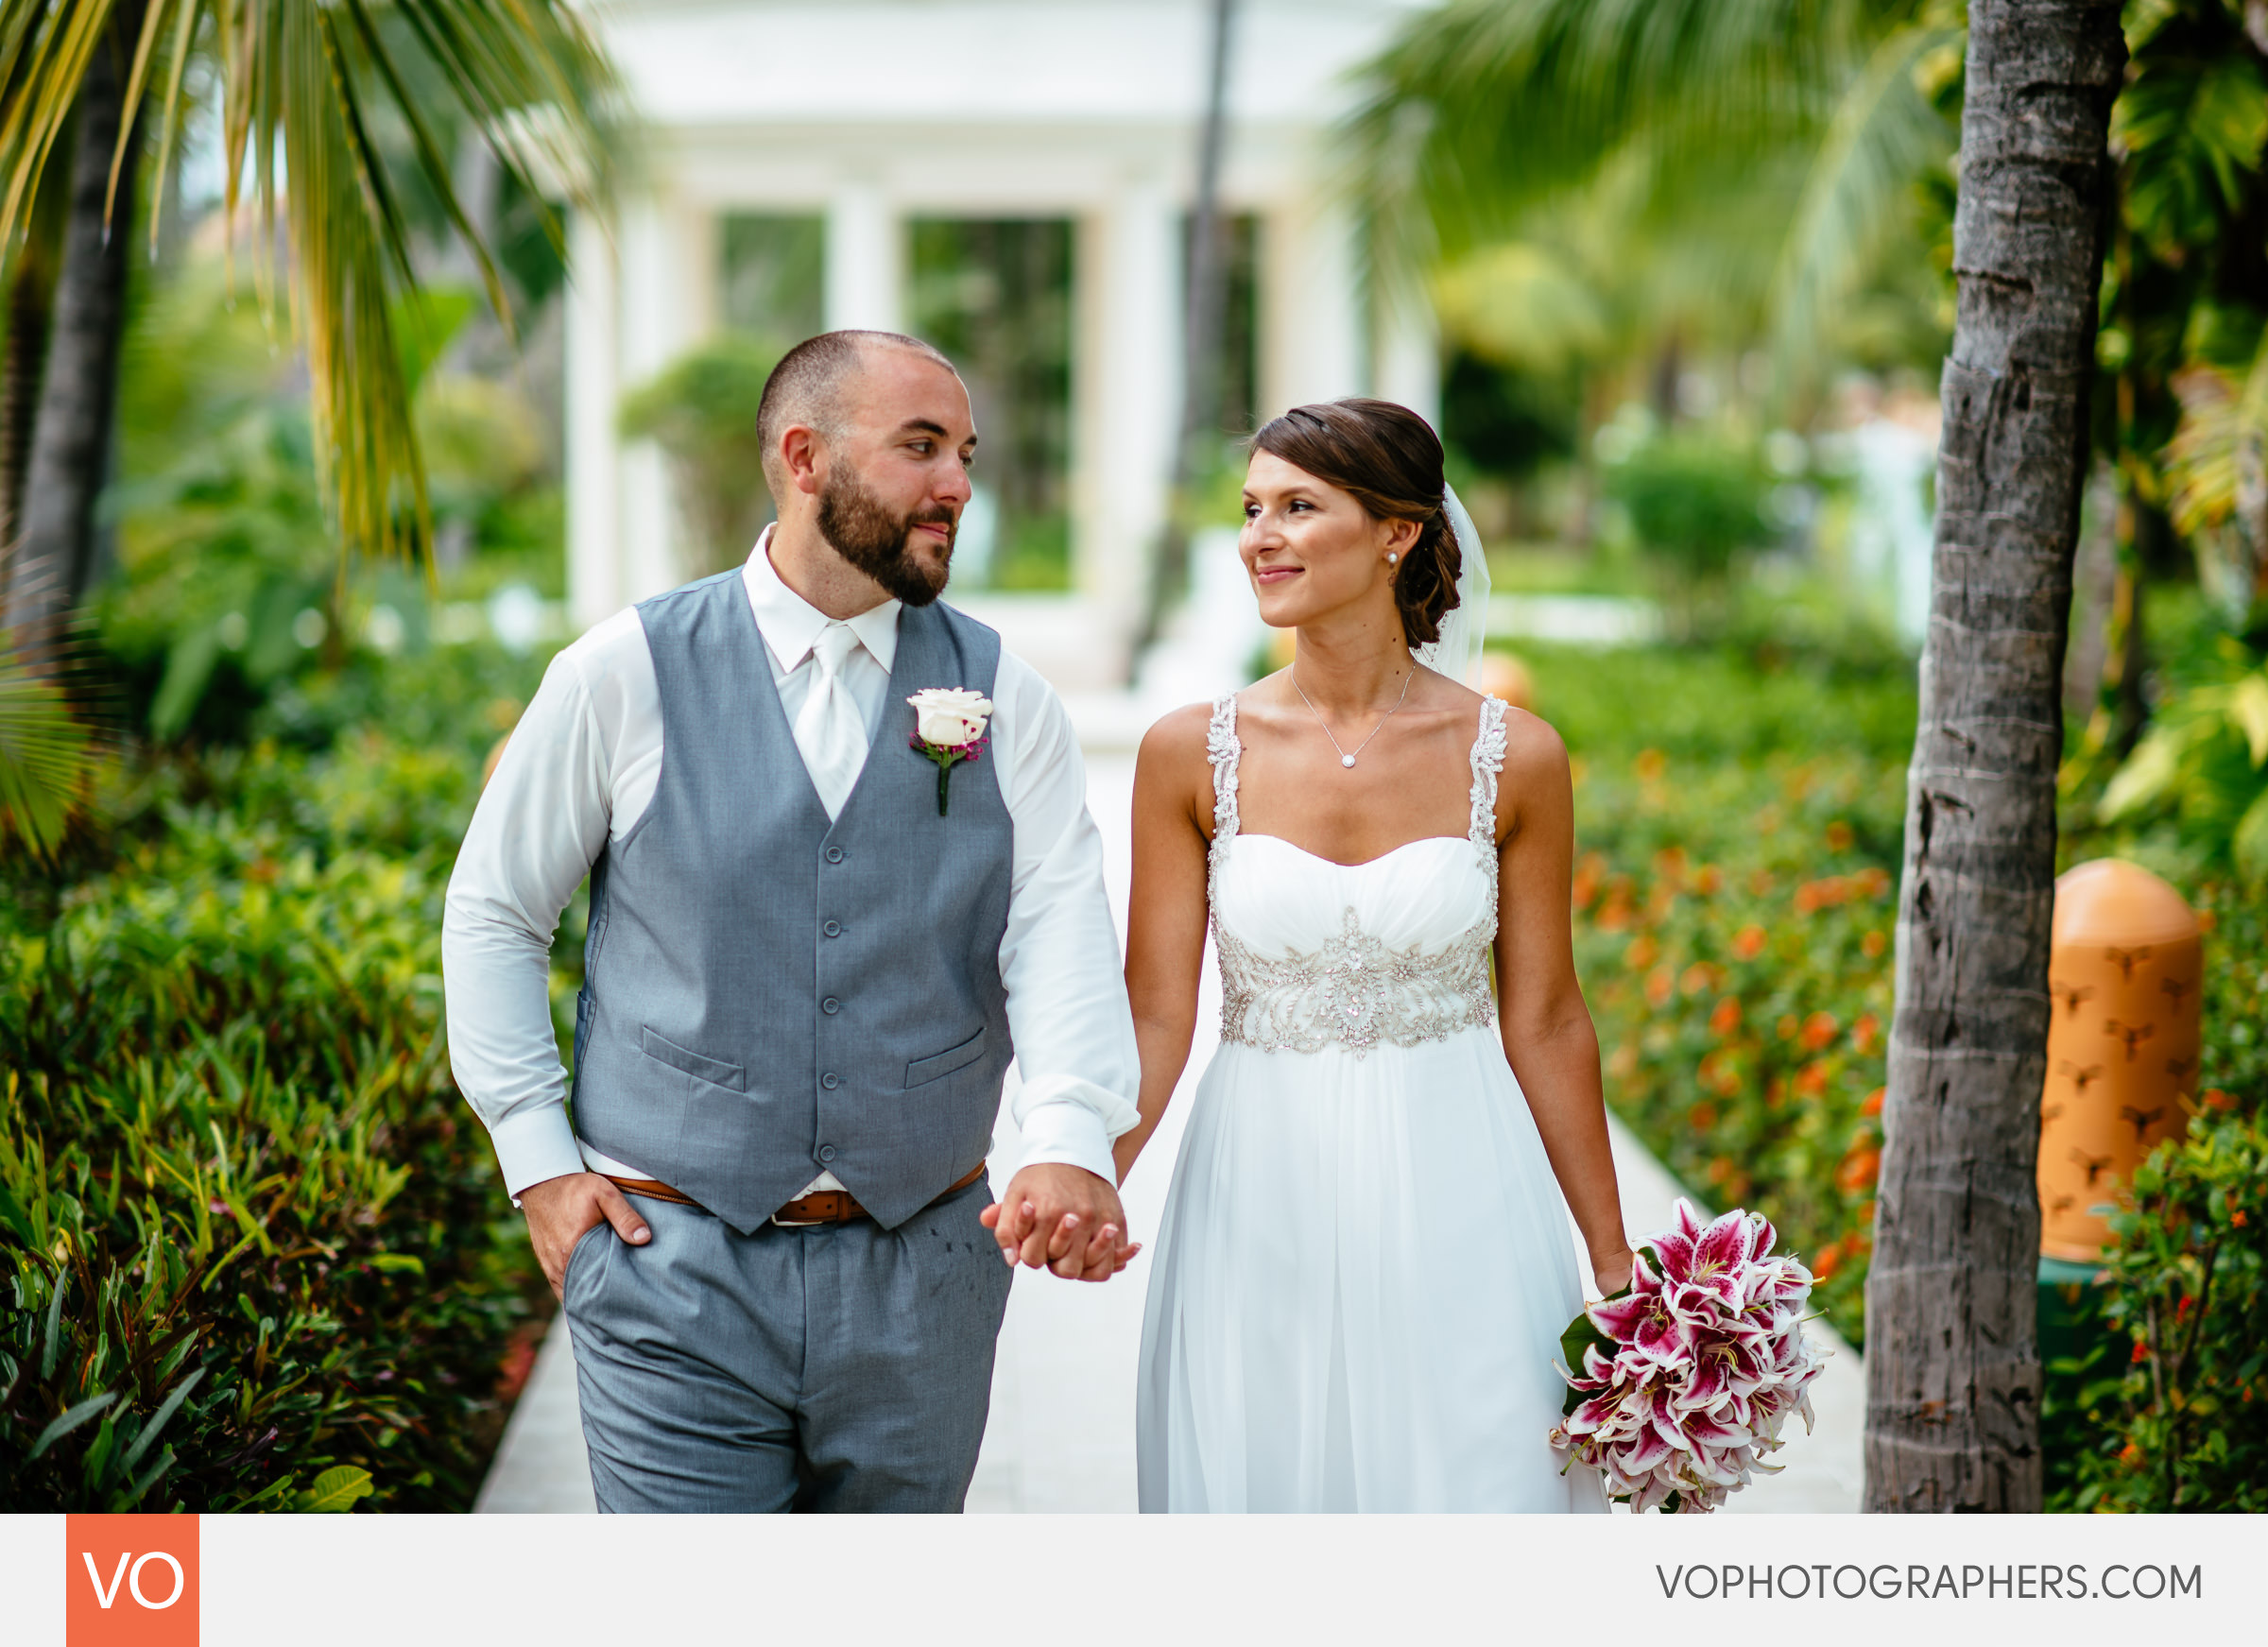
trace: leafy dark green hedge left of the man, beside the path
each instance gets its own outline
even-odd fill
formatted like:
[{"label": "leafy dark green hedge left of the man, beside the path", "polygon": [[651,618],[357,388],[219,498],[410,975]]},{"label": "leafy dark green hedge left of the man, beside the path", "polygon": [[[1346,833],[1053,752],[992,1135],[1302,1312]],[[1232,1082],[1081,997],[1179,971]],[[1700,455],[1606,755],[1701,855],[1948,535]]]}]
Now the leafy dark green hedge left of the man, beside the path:
[{"label": "leafy dark green hedge left of the man, beside the path", "polygon": [[161,765],[109,873],[9,903],[0,1506],[469,1506],[542,1300],[438,1034],[474,776]]}]

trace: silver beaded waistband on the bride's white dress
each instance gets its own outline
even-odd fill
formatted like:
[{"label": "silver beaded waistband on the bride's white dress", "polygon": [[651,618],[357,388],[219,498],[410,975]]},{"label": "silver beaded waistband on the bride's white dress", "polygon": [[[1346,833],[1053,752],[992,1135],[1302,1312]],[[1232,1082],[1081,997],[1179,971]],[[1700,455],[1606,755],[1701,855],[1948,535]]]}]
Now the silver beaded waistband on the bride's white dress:
[{"label": "silver beaded waistband on the bride's white dress", "polygon": [[1338,937],[1304,955],[1261,955],[1213,923],[1220,948],[1220,1039],[1263,1053],[1356,1057],[1381,1041],[1445,1041],[1497,1021],[1488,987],[1495,921],[1483,921],[1433,955],[1388,948],[1363,932],[1354,910]]}]

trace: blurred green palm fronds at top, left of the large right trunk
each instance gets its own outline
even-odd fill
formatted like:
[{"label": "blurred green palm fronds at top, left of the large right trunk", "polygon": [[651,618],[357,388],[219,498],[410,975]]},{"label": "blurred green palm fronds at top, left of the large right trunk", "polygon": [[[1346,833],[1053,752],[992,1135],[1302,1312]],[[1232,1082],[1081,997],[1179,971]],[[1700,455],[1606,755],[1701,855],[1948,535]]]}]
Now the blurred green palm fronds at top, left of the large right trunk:
[{"label": "blurred green palm fronds at top, left of the large right trunk", "polygon": [[1817,388],[1837,358],[1926,356],[1916,181],[1948,181],[1957,25],[1930,0],[1427,11],[1352,129],[1379,252],[1438,261],[1452,324],[1526,311],[1529,352],[1597,368],[1765,340]]}]

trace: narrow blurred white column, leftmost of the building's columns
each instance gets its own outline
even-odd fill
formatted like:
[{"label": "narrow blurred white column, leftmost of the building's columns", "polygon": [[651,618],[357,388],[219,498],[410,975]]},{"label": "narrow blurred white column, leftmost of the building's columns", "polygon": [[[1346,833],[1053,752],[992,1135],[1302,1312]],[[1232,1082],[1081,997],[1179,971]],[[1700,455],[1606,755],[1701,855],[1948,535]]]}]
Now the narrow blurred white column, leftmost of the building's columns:
[{"label": "narrow blurred white column, leftmost of the building's columns", "polygon": [[576,211],[567,227],[567,615],[590,628],[626,603],[615,451],[615,247]]}]

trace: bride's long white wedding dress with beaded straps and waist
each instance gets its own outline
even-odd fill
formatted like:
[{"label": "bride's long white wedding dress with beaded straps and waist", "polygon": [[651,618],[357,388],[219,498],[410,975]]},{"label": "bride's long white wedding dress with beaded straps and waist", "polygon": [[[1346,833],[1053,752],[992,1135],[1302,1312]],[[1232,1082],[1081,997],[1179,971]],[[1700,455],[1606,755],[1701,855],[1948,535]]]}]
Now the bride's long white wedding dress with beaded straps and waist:
[{"label": "bride's long white wedding dress with beaded straps and waist", "polygon": [[1603,1511],[1545,1436],[1583,1304],[1567,1209],[1495,1030],[1497,771],[1470,833],[1334,864],[1236,828],[1213,706],[1225,989],[1152,1250],[1145,1511]]}]

